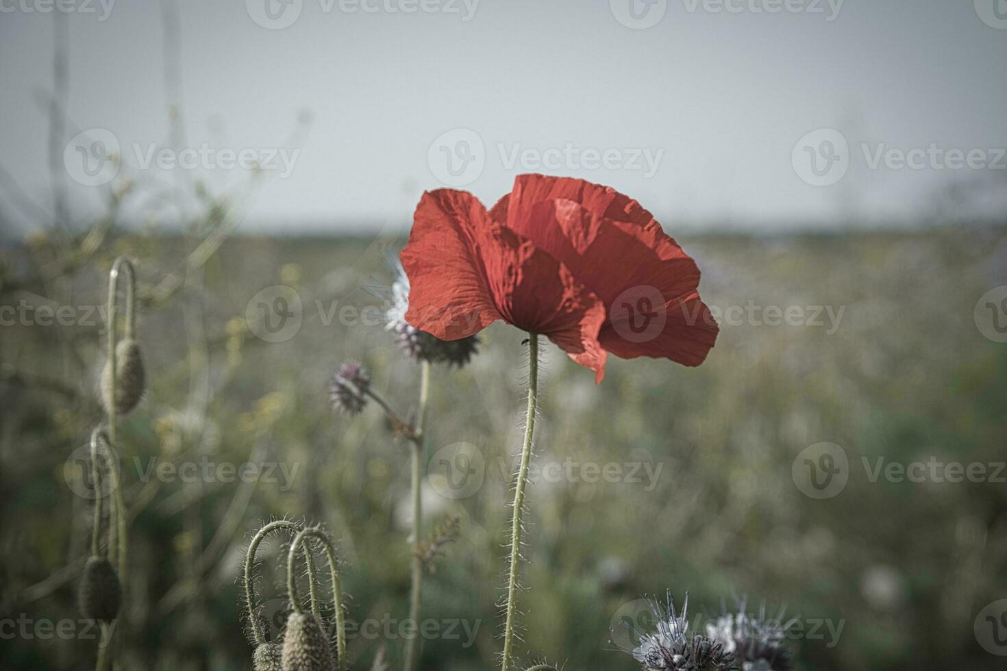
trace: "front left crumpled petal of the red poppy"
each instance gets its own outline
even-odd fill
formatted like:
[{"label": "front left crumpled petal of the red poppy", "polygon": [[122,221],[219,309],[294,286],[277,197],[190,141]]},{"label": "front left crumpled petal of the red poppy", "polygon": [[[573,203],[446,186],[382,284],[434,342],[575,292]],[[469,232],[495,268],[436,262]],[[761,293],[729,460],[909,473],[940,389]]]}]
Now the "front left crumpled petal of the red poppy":
[{"label": "front left crumpled petal of the red poppy", "polygon": [[406,321],[416,328],[457,340],[502,319],[547,336],[596,378],[604,374],[604,304],[470,193],[425,193],[401,259],[411,285]]}]

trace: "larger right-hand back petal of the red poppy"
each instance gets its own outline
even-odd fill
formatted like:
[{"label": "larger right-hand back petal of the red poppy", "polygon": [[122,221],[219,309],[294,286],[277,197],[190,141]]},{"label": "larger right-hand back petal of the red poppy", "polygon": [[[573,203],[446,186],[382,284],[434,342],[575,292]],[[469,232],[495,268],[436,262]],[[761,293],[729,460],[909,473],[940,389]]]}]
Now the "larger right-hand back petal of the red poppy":
[{"label": "larger right-hand back petal of the red poppy", "polygon": [[612,354],[695,366],[716,342],[696,263],[636,201],[582,180],[523,175],[490,214],[601,298],[608,318],[600,340]]}]

